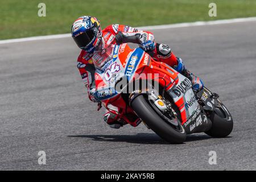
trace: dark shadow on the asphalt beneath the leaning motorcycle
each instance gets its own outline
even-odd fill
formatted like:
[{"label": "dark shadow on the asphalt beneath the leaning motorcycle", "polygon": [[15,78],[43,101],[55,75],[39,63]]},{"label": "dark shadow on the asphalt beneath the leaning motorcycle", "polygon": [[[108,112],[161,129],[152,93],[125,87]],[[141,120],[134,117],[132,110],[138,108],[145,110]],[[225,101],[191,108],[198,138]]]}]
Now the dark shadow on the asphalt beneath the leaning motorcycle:
[{"label": "dark shadow on the asphalt beneath the leaning motorcycle", "polygon": [[[138,133],[136,135],[70,135],[68,137],[91,138],[103,142],[128,142],[139,144],[169,144],[154,133]],[[210,139],[208,135],[187,135],[187,142]]]}]

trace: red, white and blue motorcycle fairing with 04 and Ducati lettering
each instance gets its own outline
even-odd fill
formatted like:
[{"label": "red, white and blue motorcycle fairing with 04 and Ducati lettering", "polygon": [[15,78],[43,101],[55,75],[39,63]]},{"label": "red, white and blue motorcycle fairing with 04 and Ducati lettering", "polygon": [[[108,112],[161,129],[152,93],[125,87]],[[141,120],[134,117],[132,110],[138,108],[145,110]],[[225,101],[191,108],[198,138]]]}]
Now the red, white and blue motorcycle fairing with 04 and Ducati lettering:
[{"label": "red, white and blue motorcycle fairing with 04 and Ducati lettering", "polygon": [[[166,79],[167,92],[171,94],[175,105],[180,110],[182,125],[186,126],[186,132],[195,133],[204,130],[206,126],[204,123],[207,123],[208,120],[206,115],[202,113],[203,111],[193,93],[191,81],[187,77],[164,63],[155,63],[141,48],[130,49],[127,44],[121,44],[115,46],[112,53],[113,59],[108,61],[101,70],[97,69],[96,71],[97,91],[95,97],[97,100],[102,101],[106,107],[110,104],[118,105],[121,110],[126,110],[126,114],[129,113],[127,110],[133,112],[127,107],[122,97],[119,97],[121,93],[115,90],[115,83],[120,75],[125,76],[128,81],[133,81],[132,78],[135,73],[141,73],[141,68],[145,67],[143,73],[159,72],[159,77]],[[112,73],[114,75],[111,75]],[[166,86],[163,83],[161,85]],[[133,125],[133,123],[130,124]]]}]

